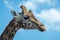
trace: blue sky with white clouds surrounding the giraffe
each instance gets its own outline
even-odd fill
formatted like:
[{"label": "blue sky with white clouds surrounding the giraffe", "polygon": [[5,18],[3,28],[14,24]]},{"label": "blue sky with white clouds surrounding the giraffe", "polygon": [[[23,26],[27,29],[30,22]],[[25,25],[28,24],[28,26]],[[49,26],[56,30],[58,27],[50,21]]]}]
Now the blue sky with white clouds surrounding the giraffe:
[{"label": "blue sky with white clouds surrounding the giraffe", "polygon": [[0,35],[13,19],[10,11],[21,12],[20,5],[32,10],[46,31],[20,29],[14,40],[60,40],[60,0],[0,0]]}]

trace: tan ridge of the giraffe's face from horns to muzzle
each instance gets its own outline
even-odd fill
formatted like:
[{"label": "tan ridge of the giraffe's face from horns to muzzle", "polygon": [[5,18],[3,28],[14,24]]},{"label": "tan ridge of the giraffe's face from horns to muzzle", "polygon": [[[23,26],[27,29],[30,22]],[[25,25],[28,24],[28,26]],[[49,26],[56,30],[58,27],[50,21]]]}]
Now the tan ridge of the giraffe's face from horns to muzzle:
[{"label": "tan ridge of the giraffe's face from horns to muzzle", "polygon": [[22,12],[24,12],[25,16],[29,17],[29,20],[32,21],[32,23],[37,24],[38,29],[40,31],[45,31],[45,26],[43,24],[41,24],[41,22],[39,22],[33,15],[33,12],[31,10],[27,11],[27,8],[25,6],[21,6],[20,8],[22,8]]}]

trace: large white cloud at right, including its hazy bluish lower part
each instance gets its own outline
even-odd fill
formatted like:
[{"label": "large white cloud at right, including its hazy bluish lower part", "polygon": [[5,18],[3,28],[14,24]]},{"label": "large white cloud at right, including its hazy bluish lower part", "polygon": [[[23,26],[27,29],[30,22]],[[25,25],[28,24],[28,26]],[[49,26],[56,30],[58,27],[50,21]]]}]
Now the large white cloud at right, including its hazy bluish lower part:
[{"label": "large white cloud at right, including its hazy bluish lower part", "polygon": [[[37,17],[40,19],[40,21],[43,20],[42,22],[44,22],[47,29],[60,30],[60,10],[53,8],[49,10],[42,10],[40,14],[37,14]],[[57,25],[57,23],[59,25]]]}]

